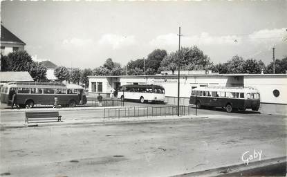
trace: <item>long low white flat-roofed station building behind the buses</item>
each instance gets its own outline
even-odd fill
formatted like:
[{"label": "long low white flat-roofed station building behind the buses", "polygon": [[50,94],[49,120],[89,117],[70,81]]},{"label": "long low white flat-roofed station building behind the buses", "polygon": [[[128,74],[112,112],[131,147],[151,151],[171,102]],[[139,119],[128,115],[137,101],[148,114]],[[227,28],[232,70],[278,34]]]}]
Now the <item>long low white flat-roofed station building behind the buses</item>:
[{"label": "long low white flat-roofed station building behind the buses", "polygon": [[[177,73],[175,71],[174,73]],[[89,94],[110,97],[125,84],[155,84],[165,88],[167,104],[177,104],[178,75],[89,76]],[[262,113],[287,115],[287,74],[219,74],[211,71],[180,71],[180,104],[188,104],[193,88],[198,86],[240,86],[257,88]]]}]

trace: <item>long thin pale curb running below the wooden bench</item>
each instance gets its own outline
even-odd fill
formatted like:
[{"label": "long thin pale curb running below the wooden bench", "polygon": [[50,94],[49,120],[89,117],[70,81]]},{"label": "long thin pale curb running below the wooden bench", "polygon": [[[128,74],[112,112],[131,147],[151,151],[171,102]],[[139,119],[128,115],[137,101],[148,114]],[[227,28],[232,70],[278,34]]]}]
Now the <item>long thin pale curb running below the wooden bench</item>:
[{"label": "long thin pale curb running below the wooden bench", "polygon": [[154,118],[147,120],[102,120],[99,122],[51,122],[51,123],[31,123],[31,124],[17,124],[17,125],[2,125],[0,130],[3,129],[18,129],[26,127],[49,127],[49,126],[68,126],[68,125],[102,125],[102,124],[139,124],[139,123],[149,123],[149,122],[169,122],[176,120],[192,120],[192,119],[201,119],[209,118],[207,116],[198,116],[198,117],[188,117],[188,118]]}]

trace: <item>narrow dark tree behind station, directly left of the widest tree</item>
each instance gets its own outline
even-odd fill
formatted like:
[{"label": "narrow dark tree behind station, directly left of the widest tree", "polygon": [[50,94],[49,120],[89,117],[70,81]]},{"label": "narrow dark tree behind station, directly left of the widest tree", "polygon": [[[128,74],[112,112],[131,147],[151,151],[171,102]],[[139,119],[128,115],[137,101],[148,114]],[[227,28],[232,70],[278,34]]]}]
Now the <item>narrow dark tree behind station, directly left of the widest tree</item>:
[{"label": "narrow dark tree behind station, directly left of the widest tree", "polygon": [[[158,73],[158,68],[160,67],[160,62],[163,61],[163,59],[167,56],[166,50],[160,50],[156,49],[149,53],[147,56],[146,61],[146,68],[149,70],[149,74],[147,75],[154,75],[155,73]],[[151,68],[151,69],[149,69]],[[152,72],[151,72],[152,71]]]}]

